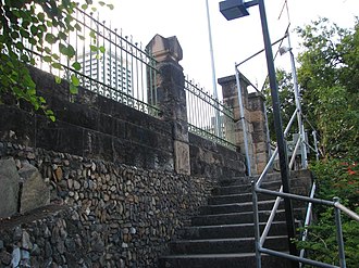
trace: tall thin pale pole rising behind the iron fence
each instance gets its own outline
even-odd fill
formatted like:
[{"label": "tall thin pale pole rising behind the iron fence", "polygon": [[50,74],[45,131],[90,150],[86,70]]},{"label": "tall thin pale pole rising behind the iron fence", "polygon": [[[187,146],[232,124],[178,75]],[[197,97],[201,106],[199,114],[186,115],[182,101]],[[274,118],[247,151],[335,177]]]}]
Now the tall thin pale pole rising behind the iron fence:
[{"label": "tall thin pale pole rising behind the iron fence", "polygon": [[[207,8],[207,25],[208,25],[208,38],[210,44],[210,54],[211,54],[211,67],[212,67],[212,86],[213,86],[213,97],[215,100],[219,100],[218,91],[216,91],[216,79],[215,79],[215,67],[214,67],[214,55],[213,55],[213,42],[212,42],[212,29],[211,29],[211,20],[210,20],[210,12],[208,0],[206,0],[206,8]],[[221,128],[221,116],[220,116],[220,107],[216,103],[215,111],[214,111],[214,133],[222,138],[222,128]]]}]

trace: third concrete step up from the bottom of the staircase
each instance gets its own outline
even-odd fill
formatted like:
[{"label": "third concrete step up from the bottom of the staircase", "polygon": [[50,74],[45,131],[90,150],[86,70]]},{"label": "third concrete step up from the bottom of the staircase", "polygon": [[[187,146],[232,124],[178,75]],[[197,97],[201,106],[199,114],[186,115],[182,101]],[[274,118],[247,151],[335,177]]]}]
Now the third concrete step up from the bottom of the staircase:
[{"label": "third concrete step up from the bottom of the staircase", "polygon": [[[265,224],[260,225],[260,230],[264,229]],[[285,221],[274,221],[269,235],[285,235]],[[231,238],[253,238],[253,224],[222,225],[222,226],[197,226],[181,229],[178,237],[184,240],[199,239],[231,239]]]}]

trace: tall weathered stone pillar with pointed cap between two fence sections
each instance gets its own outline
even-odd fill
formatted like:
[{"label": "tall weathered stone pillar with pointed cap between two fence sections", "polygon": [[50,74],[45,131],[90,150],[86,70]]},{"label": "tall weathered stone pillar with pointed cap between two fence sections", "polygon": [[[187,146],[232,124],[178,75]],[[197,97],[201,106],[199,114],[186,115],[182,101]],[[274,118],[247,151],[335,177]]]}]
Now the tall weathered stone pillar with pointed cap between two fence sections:
[{"label": "tall weathered stone pillar with pointed cap between two fence sections", "polygon": [[147,44],[158,62],[157,100],[162,119],[172,124],[174,166],[177,174],[190,174],[185,76],[178,64],[182,48],[176,37],[156,35]]}]

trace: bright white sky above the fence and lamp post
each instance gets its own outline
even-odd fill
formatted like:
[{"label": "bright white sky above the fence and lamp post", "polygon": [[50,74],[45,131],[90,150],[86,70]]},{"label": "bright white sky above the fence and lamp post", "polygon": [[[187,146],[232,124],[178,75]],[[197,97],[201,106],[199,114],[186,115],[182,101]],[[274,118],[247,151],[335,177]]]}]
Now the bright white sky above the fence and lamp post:
[{"label": "bright white sky above the fence and lamp post", "polygon": [[[215,78],[235,73],[239,63],[263,48],[258,7],[248,11],[249,16],[226,21],[220,13],[219,2],[208,0]],[[342,27],[352,27],[359,16],[359,0],[287,0],[288,13],[280,14],[285,0],[264,0],[271,41],[282,38],[290,22],[290,39],[295,54],[300,51],[299,40],[293,31],[320,16]],[[208,36],[206,0],[112,0],[113,11],[101,12],[113,27],[122,28],[124,35],[146,46],[156,34],[176,36],[183,49],[180,64],[185,75],[212,91],[213,77]],[[284,43],[287,46],[287,42]],[[273,47],[275,53],[277,47]],[[289,55],[277,56],[275,67],[290,71]],[[239,71],[253,85],[262,86],[267,77],[264,54],[239,66]],[[219,94],[221,89],[219,86]]]}]

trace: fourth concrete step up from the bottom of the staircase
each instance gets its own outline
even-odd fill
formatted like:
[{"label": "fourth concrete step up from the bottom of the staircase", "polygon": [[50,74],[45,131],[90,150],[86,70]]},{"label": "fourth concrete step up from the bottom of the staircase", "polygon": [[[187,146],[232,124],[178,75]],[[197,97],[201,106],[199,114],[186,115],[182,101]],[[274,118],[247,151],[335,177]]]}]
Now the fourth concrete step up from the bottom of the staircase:
[{"label": "fourth concrete step up from the bottom of the staircase", "polygon": [[[259,213],[259,221],[267,221],[271,210],[261,210]],[[285,218],[284,210],[278,209],[275,215],[275,221],[283,221]],[[253,213],[231,213],[231,214],[215,214],[215,215],[198,215],[191,218],[191,226],[220,226],[220,225],[238,225],[252,224]]]}]

